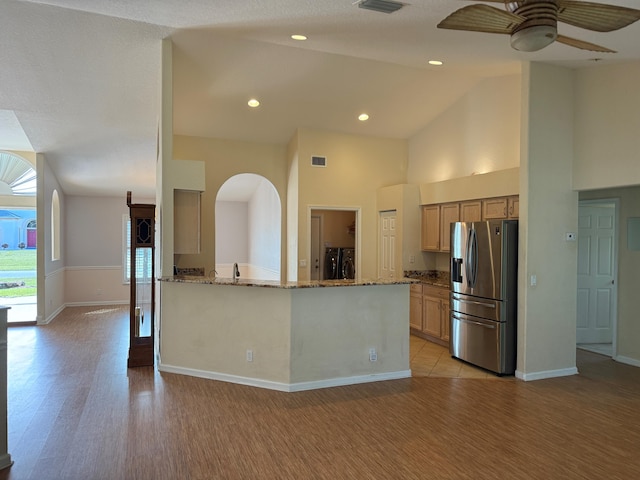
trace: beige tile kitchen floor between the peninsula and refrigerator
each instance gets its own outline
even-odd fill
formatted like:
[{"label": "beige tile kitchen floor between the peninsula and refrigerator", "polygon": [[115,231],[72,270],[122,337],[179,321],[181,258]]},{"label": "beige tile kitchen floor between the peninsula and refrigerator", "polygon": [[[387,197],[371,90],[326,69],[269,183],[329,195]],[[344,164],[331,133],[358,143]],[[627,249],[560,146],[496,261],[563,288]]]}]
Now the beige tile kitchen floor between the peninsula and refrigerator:
[{"label": "beige tile kitchen floor between the peninsula and refrigerator", "polygon": [[413,377],[510,378],[473,367],[451,358],[449,350],[414,335],[409,339],[409,360]]}]

